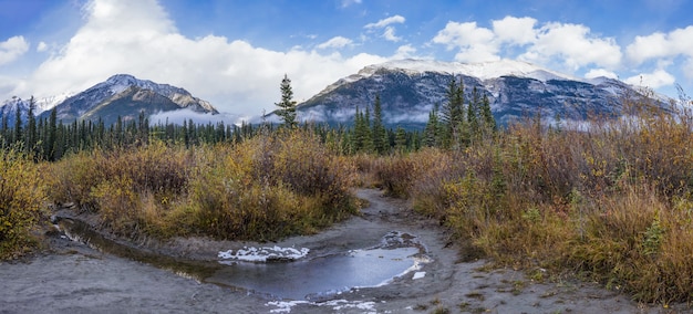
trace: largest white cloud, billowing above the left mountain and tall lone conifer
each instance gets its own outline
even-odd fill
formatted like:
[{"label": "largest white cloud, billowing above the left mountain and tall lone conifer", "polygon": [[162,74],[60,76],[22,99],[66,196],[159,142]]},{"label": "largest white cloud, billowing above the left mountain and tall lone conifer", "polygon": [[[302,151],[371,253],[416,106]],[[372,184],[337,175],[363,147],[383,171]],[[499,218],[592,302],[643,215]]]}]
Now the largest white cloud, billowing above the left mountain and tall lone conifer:
[{"label": "largest white cloud, billowing above the left mountain and tall lone conifer", "polygon": [[[328,84],[385,57],[344,57],[317,51],[272,51],[242,40],[182,35],[155,0],[92,0],[85,23],[13,94],[50,96],[80,92],[116,73],[185,87],[221,112],[260,115],[280,98],[283,74],[294,98],[306,100]],[[334,43],[334,42],[333,42]]]}]

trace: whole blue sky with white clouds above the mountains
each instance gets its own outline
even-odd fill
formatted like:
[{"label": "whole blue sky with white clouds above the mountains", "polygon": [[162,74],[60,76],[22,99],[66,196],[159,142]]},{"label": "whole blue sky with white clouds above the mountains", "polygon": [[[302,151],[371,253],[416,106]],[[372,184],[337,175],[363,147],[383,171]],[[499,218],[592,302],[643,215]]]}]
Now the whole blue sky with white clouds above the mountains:
[{"label": "whole blue sky with white clouds above the mountains", "polygon": [[693,1],[0,0],[0,101],[116,73],[182,86],[241,117],[363,66],[521,60],[693,94]]}]

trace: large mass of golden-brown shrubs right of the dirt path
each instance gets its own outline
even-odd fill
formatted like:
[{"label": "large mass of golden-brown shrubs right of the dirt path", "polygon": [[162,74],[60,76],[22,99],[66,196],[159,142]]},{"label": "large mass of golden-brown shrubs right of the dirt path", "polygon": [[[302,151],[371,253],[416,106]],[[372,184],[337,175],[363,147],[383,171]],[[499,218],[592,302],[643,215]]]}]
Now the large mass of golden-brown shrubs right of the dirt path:
[{"label": "large mass of golden-brown shrubs right of the dirt path", "polygon": [[528,121],[463,149],[393,157],[380,179],[497,263],[691,302],[693,119],[628,113],[561,128]]}]

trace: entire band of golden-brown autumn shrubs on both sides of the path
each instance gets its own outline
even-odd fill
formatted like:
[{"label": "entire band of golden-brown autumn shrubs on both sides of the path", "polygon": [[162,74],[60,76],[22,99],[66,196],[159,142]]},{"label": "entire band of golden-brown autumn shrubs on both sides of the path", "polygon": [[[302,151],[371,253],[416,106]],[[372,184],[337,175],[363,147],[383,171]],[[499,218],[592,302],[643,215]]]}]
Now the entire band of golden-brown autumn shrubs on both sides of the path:
[{"label": "entire band of golden-brown autumn shrubs on both sides of the path", "polygon": [[389,154],[344,151],[343,138],[310,128],[96,147],[50,163],[8,149],[0,258],[37,245],[51,203],[74,203],[125,238],[271,241],[358,213],[351,189],[376,185],[534,280],[570,274],[640,302],[692,302],[693,116],[647,104],[624,113],[575,125],[528,119],[463,145],[446,138],[445,148],[404,149],[401,136]]}]

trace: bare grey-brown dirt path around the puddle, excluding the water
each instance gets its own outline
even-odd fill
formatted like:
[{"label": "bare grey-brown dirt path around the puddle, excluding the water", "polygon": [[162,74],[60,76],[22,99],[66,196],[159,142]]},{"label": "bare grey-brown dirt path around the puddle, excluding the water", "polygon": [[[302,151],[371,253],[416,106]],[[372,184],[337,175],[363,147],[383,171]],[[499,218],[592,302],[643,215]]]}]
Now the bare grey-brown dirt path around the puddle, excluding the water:
[{"label": "bare grey-brown dirt path around the puddle, excluding the water", "polygon": [[[380,287],[352,290],[321,302],[271,300],[237,289],[200,283],[186,275],[52,239],[53,253],[28,262],[0,263],[0,313],[680,313],[641,306],[628,296],[590,283],[537,283],[521,272],[485,270],[485,261],[458,262],[459,248],[434,221],[406,202],[359,190],[370,206],[361,217],[317,236],[290,238],[280,247],[301,247],[311,257],[376,245],[390,231],[415,234],[431,262]],[[219,251],[249,242],[178,239],[143,241],[139,249],[189,260],[215,261]],[[414,279],[416,276],[416,279]]]}]

